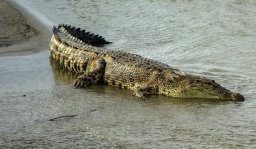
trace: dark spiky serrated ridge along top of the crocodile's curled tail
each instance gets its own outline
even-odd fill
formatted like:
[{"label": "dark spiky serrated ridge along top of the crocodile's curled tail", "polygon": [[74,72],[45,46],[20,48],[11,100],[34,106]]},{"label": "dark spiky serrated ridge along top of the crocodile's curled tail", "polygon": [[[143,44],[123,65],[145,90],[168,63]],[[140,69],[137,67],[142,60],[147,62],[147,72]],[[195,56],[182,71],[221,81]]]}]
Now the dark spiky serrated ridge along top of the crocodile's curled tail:
[{"label": "dark spiky serrated ridge along top of the crocodile's curled tail", "polygon": [[68,24],[59,24],[59,26],[56,29],[62,32],[65,36],[69,36],[69,39],[73,38],[73,40],[75,40],[76,42],[84,42],[86,44],[90,44],[97,47],[112,43],[106,41],[104,38],[102,38],[102,36],[95,35],[92,32],[85,32],[85,30],[81,30],[81,28],[71,27],[68,26]]}]

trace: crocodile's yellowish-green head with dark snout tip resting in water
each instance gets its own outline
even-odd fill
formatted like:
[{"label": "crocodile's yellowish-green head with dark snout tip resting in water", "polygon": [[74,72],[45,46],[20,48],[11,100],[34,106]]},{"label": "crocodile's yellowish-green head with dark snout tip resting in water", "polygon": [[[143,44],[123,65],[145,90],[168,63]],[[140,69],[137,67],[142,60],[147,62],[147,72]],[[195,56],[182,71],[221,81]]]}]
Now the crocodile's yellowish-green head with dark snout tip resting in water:
[{"label": "crocodile's yellowish-green head with dark snout tip resting in water", "polygon": [[169,96],[182,98],[214,98],[220,100],[244,101],[240,93],[232,93],[214,80],[205,77],[184,75],[177,77],[168,89]]}]

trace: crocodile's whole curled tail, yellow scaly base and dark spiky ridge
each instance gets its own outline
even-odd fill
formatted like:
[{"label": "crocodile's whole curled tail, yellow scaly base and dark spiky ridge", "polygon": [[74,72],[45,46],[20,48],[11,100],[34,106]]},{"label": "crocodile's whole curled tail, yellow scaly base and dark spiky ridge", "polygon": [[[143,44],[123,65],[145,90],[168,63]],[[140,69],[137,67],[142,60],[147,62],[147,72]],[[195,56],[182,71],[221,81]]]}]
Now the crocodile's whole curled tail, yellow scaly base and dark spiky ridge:
[{"label": "crocodile's whole curled tail, yellow scaly base and dark spiky ridge", "polygon": [[[53,59],[64,68],[77,73],[85,73],[88,57],[97,57],[98,53],[105,51],[98,46],[109,44],[104,38],[92,33],[85,33],[80,28],[60,24],[53,26],[53,36],[49,45],[49,52]],[[106,52],[106,51],[105,51]]]}]

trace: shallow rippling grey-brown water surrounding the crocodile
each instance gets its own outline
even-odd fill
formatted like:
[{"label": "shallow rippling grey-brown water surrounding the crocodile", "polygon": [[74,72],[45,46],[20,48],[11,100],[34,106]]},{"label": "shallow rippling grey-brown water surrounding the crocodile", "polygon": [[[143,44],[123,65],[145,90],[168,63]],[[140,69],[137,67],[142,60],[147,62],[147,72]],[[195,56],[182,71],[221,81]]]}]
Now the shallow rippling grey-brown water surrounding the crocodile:
[{"label": "shallow rippling grey-brown water surrounding the crocodile", "polygon": [[[52,63],[47,49],[0,57],[0,147],[256,147],[256,2],[18,3],[46,24],[85,28],[113,42],[109,49],[213,78],[246,101],[142,101],[111,86],[73,89],[76,74]],[[47,121],[73,114],[78,115]]]}]

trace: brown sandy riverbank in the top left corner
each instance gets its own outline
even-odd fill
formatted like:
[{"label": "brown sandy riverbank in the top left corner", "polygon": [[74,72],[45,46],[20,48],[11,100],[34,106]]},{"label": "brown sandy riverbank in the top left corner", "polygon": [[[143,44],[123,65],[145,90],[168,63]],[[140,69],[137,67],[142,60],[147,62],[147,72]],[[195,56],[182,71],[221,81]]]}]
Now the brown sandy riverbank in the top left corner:
[{"label": "brown sandy riverbank in the top left corner", "polygon": [[47,48],[49,28],[14,2],[0,2],[0,26],[0,56],[27,55]]}]

